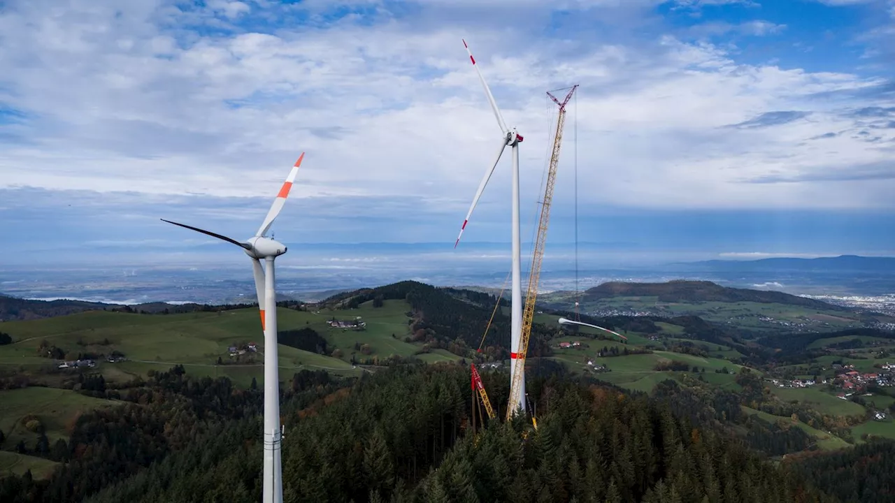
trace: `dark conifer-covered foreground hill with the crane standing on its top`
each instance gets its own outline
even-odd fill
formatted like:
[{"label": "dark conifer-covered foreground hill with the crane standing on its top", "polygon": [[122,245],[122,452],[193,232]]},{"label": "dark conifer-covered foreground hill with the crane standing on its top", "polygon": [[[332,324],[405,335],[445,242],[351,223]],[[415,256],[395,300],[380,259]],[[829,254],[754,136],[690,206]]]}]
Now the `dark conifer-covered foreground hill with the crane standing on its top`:
[{"label": "dark conifer-covered foreground hill with the crane standing on its top", "polygon": [[[492,424],[476,438],[468,379],[460,367],[401,366],[293,408],[285,500],[835,501],[710,425],[592,384],[541,379],[537,432],[524,440],[527,423]],[[168,456],[90,501],[257,501],[260,448],[246,448],[250,433],[203,437],[204,451]]]}]

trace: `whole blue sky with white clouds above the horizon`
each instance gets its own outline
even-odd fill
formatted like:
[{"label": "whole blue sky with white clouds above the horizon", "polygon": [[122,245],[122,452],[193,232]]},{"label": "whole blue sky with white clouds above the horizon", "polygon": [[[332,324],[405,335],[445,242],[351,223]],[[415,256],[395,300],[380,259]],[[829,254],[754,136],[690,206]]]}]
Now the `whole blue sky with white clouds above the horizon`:
[{"label": "whole blue sky with white clouds above the horizon", "polygon": [[[159,218],[248,237],[303,151],[290,251],[452,252],[500,141],[461,38],[524,136],[524,238],[577,83],[550,243],[577,173],[622,255],[895,254],[890,0],[6,0],[0,266],[226,251]],[[466,242],[508,243],[509,167]]]}]

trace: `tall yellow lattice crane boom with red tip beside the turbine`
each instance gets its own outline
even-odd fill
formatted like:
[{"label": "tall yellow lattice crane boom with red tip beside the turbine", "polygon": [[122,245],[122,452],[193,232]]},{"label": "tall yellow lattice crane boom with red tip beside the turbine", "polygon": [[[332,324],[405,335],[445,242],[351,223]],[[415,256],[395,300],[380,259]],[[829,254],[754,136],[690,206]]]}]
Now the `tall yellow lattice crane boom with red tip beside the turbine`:
[{"label": "tall yellow lattice crane boom with red tip beside the turbine", "polygon": [[556,184],[557,167],[559,165],[559,148],[562,145],[562,130],[566,124],[566,105],[568,100],[572,98],[578,85],[572,86],[568,91],[566,98],[560,103],[559,100],[547,93],[547,96],[559,106],[559,115],[557,117],[556,135],[553,139],[553,151],[550,154],[550,169],[547,173],[547,183],[544,190],[544,200],[541,205],[541,219],[538,221],[538,236],[534,243],[534,251],[532,253],[532,268],[528,273],[528,292],[525,294],[525,307],[522,313],[522,333],[519,338],[519,352],[516,354],[516,368],[513,372],[513,383],[509,392],[509,406],[507,407],[507,421],[512,418],[513,413],[519,408],[519,404],[515,399],[517,390],[522,387],[522,379],[524,378],[525,356],[528,354],[528,339],[532,334],[532,322],[534,320],[534,303],[538,296],[538,282],[541,278],[541,261],[544,258],[544,244],[547,242],[547,226],[550,223],[550,202],[553,200],[553,187]]}]

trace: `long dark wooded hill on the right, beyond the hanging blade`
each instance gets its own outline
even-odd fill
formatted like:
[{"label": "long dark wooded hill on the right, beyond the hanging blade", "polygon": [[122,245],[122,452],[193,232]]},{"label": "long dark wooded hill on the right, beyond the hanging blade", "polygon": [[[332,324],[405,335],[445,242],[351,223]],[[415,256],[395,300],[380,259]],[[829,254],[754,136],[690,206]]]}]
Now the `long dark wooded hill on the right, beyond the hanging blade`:
[{"label": "long dark wooded hill on the right, beyond the hanging blade", "polygon": [[656,296],[664,303],[720,302],[720,303],[780,303],[812,309],[848,311],[842,306],[822,301],[766,290],[731,288],[711,281],[676,279],[667,283],[625,283],[610,281],[584,292],[584,301],[596,301],[611,297]]}]

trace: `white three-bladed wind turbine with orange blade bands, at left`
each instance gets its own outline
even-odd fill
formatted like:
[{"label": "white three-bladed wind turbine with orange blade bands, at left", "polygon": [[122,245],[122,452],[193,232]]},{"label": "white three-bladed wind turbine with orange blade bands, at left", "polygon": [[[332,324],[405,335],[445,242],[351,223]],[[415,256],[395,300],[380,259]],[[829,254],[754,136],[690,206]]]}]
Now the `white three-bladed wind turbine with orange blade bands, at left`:
[{"label": "white three-bladed wind turbine with orange blade bands, at left", "polygon": [[[279,424],[279,370],[277,351],[277,290],[275,287],[274,259],[286,253],[286,245],[266,237],[270,226],[274,223],[289,190],[302,166],[304,152],[295,161],[286,182],[280,187],[277,198],[270,205],[268,216],[249,239],[239,242],[226,235],[215,234],[198,227],[178,224],[162,218],[161,220],[175,226],[182,226],[202,234],[217,237],[227,243],[234,243],[243,248],[243,252],[251,257],[251,266],[255,275],[255,293],[258,295],[258,308],[261,311],[261,329],[264,331],[264,503],[281,503],[283,501],[283,467],[281,463],[281,445],[283,431]],[[264,268],[261,260],[265,261]],[[269,308],[269,309],[266,309]]]}]

